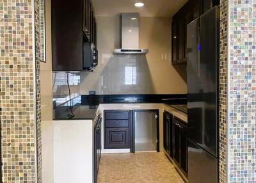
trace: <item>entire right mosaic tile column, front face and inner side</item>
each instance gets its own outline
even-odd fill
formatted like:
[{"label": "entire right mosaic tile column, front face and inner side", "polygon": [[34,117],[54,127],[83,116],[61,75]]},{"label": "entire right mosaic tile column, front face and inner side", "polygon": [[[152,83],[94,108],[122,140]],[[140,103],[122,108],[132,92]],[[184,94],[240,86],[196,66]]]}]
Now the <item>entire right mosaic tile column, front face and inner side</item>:
[{"label": "entire right mosaic tile column, front face and inner side", "polygon": [[256,181],[256,1],[221,1],[220,182]]}]

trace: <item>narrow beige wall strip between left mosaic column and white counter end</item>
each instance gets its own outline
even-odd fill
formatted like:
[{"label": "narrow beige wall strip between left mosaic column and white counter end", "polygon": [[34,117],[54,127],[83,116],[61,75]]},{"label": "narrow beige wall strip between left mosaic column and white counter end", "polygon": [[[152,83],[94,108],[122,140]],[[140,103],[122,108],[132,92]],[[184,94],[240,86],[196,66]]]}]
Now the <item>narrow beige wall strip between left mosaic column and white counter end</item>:
[{"label": "narrow beige wall strip between left mosaic column and white counter end", "polygon": [[51,0],[45,1],[45,7],[46,63],[40,62],[42,180],[44,183],[53,183]]}]

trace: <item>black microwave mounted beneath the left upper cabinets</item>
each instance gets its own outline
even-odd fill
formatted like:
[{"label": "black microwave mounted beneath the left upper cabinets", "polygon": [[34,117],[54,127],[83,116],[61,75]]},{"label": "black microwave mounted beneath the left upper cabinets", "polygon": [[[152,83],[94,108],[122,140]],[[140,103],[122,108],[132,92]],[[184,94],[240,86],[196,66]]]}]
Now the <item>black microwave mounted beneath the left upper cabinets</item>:
[{"label": "black microwave mounted beneath the left upper cabinets", "polygon": [[83,42],[83,70],[92,71],[98,65],[98,51],[92,42]]}]

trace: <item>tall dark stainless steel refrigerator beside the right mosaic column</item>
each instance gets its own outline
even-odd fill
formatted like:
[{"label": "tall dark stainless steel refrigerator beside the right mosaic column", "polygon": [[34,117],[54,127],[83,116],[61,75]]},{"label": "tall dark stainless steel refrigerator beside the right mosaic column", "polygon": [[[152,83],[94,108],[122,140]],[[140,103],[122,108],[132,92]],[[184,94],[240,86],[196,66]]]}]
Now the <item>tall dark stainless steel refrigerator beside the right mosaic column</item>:
[{"label": "tall dark stainless steel refrigerator beside the right mosaic column", "polygon": [[188,180],[218,182],[220,10],[187,26]]}]

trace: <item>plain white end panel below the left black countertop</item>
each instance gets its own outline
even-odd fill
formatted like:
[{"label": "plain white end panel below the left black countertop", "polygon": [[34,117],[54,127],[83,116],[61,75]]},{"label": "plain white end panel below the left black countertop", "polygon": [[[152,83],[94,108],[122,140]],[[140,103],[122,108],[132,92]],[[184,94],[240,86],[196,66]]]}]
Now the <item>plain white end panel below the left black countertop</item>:
[{"label": "plain white end panel below the left black countertop", "polygon": [[54,183],[93,182],[92,120],[60,120],[53,126]]}]

